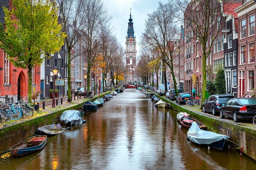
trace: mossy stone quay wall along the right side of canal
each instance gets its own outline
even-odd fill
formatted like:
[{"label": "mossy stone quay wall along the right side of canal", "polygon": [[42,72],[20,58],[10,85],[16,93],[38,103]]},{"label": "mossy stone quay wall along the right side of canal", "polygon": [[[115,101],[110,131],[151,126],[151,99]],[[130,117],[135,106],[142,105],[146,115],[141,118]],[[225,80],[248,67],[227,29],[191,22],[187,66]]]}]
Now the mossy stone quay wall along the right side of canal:
[{"label": "mossy stone quay wall along the right side of canal", "polygon": [[252,121],[234,122],[233,119],[221,119],[220,116],[213,116],[211,113],[203,113],[200,106],[187,107],[170,101],[165,97],[158,96],[163,101],[171,104],[177,112],[186,112],[190,117],[201,121],[210,131],[222,135],[228,135],[229,144],[233,149],[243,150],[243,154],[256,161],[256,127]]}]

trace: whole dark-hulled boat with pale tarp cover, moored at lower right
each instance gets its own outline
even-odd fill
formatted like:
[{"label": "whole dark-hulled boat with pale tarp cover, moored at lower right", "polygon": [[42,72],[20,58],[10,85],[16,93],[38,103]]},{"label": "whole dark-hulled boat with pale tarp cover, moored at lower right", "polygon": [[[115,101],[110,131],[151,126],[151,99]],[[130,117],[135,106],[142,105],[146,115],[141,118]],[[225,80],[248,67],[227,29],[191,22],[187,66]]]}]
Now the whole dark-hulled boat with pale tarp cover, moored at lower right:
[{"label": "whole dark-hulled boat with pale tarp cover, moored at lower right", "polygon": [[208,150],[210,150],[210,148],[223,150],[227,144],[227,139],[229,138],[227,135],[202,130],[195,121],[192,122],[191,127],[187,132],[187,137],[193,144],[206,146],[208,147]]}]

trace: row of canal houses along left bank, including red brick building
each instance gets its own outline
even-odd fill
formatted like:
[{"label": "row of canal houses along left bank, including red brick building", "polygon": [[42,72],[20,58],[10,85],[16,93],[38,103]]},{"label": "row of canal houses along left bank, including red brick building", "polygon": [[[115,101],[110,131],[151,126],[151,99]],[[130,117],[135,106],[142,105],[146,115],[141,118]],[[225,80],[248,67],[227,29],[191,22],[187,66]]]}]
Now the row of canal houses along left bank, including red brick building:
[{"label": "row of canal houses along left bank, including red brick building", "polygon": [[[2,7],[7,7],[11,10],[11,0],[1,0],[0,1],[0,21],[4,25],[4,12]],[[62,16],[58,18],[59,23],[62,23]],[[89,85],[90,89],[92,84],[99,80],[97,75],[90,73],[90,84],[87,84],[87,79],[84,75],[87,74],[87,58],[86,55],[77,55],[79,51],[85,49],[86,45],[85,35],[81,35],[76,45],[72,49],[72,58],[75,59],[71,61],[71,89],[74,91],[77,87],[86,87]],[[53,70],[57,69],[58,74],[56,79],[63,79],[63,86],[55,86],[59,89],[60,97],[67,95],[67,49],[64,44],[60,51],[49,54],[49,59],[45,60],[41,66],[35,66],[32,71],[32,91],[40,91],[40,99],[50,98],[49,90],[54,87],[54,74]],[[0,102],[4,101],[17,101],[20,99],[27,99],[28,97],[28,69],[17,68],[9,62],[7,54],[0,49]],[[37,101],[38,101],[37,100]]]}]

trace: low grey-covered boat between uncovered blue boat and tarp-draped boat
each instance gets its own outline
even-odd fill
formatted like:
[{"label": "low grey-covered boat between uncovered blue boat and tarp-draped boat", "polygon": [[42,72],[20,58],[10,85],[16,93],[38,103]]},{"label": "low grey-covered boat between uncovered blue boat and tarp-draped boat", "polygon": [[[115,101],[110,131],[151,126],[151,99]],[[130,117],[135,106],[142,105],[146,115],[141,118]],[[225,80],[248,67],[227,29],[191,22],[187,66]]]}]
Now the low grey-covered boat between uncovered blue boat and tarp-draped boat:
[{"label": "low grey-covered boat between uncovered blue boat and tarp-draped boat", "polygon": [[37,128],[39,134],[45,135],[57,135],[66,130],[60,124],[51,124]]}]

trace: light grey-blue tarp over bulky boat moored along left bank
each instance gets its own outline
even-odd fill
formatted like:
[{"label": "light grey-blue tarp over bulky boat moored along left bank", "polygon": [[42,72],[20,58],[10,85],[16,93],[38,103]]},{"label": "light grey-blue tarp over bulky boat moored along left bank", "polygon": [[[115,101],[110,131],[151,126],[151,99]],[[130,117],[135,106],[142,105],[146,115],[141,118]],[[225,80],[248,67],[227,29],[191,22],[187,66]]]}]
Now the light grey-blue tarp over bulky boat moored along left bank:
[{"label": "light grey-blue tarp over bulky boat moored along left bank", "polygon": [[61,115],[61,123],[71,125],[83,124],[83,119],[79,110],[66,110]]}]

